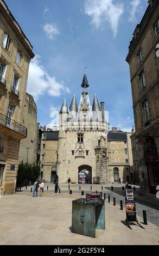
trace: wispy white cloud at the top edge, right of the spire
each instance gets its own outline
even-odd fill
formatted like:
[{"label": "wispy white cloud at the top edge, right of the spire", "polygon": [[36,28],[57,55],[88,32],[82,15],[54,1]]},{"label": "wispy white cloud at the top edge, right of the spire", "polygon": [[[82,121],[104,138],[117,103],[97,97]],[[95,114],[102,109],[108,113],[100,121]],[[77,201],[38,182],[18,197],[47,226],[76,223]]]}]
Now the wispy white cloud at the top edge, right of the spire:
[{"label": "wispy white cloud at the top edge, right of the spire", "polygon": [[98,29],[108,22],[115,37],[123,12],[123,4],[113,3],[113,0],[86,0],[85,2],[85,14],[92,17],[92,25]]}]

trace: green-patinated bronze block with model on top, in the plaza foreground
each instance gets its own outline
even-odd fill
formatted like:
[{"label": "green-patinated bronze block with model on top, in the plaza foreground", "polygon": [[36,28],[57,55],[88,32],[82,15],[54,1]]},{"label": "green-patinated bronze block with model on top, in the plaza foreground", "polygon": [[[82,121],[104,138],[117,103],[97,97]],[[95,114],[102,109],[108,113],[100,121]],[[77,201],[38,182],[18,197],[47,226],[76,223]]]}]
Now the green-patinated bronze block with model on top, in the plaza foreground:
[{"label": "green-patinated bronze block with model on top, in the plaza foreground", "polygon": [[80,198],[72,201],[72,233],[95,238],[96,228],[105,229],[104,200]]}]

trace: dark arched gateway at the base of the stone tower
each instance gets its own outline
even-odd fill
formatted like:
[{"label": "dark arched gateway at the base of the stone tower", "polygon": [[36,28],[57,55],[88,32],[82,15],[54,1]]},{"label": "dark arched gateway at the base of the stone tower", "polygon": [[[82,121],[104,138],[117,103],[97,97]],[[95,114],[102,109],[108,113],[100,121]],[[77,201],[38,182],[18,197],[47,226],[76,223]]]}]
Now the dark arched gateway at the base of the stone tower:
[{"label": "dark arched gateway at the base of the stone tower", "polygon": [[92,184],[92,167],[83,165],[78,168],[79,184]]}]

